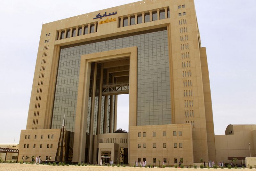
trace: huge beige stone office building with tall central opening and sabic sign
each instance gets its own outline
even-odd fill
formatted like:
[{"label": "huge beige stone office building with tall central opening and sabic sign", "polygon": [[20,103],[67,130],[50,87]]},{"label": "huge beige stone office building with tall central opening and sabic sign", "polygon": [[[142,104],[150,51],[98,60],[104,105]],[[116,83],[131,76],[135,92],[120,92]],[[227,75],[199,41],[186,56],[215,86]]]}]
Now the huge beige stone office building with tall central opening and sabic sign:
[{"label": "huge beige stone office building with tall central opening and sabic sign", "polygon": [[[116,131],[129,93],[128,132]],[[128,105],[128,103],[127,103]],[[145,0],[43,24],[19,160],[216,161],[193,0]]]}]

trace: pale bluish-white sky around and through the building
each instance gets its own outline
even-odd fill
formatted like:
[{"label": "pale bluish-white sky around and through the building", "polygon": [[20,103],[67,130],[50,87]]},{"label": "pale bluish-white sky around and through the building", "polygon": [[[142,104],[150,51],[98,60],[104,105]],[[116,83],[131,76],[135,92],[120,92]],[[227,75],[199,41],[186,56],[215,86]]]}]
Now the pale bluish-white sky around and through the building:
[{"label": "pale bluish-white sky around and through the building", "polygon": [[[42,23],[137,0],[12,0],[0,5],[0,144],[26,129]],[[255,0],[195,0],[206,47],[215,135],[228,124],[255,124]],[[129,95],[118,96],[117,128],[128,130]]]}]

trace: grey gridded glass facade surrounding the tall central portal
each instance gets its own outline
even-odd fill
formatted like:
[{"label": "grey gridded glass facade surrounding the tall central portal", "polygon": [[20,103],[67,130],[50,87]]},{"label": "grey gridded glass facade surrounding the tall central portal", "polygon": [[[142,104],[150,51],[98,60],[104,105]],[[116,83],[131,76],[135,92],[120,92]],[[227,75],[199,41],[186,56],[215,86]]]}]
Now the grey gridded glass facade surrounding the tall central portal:
[{"label": "grey gridded glass facade surrounding the tall central portal", "polygon": [[[75,129],[81,55],[133,46],[138,48],[137,125],[171,124],[168,35],[166,28],[159,28],[61,47],[52,128],[61,128],[65,114],[66,129],[68,131]],[[107,100],[109,106],[110,96]],[[88,99],[88,104],[87,131],[89,132],[91,97]],[[109,109],[107,125],[110,119]],[[103,126],[100,132],[102,131]]]}]

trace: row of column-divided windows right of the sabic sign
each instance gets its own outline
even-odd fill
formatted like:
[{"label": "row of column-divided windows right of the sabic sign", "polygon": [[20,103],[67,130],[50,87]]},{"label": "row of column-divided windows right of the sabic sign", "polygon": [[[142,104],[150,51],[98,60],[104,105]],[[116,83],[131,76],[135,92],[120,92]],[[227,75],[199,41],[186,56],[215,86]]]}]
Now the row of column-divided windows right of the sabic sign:
[{"label": "row of column-divided windows right of the sabic sign", "polygon": [[142,12],[139,15],[134,14],[132,16],[128,15],[127,17],[122,16],[119,18],[118,27],[131,26],[135,24],[146,23],[150,21],[156,21],[159,19],[167,19],[167,18],[170,18],[170,10],[168,8],[165,8],[164,10],[157,9],[153,12],[152,11],[149,11],[147,13]]}]

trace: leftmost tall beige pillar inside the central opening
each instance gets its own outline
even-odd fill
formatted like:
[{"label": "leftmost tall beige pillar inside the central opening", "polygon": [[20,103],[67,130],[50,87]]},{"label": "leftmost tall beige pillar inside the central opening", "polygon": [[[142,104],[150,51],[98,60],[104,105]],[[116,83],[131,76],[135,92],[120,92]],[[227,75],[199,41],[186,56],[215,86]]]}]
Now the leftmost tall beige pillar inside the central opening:
[{"label": "leftmost tall beige pillar inside the central opening", "polygon": [[94,121],[94,105],[95,105],[95,93],[96,93],[96,77],[97,77],[97,63],[94,65],[93,82],[92,82],[92,110],[90,117],[90,138],[89,138],[89,158],[88,161],[92,163],[92,135],[93,135],[93,121]]}]

